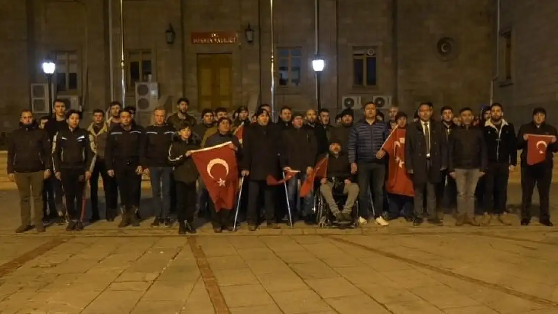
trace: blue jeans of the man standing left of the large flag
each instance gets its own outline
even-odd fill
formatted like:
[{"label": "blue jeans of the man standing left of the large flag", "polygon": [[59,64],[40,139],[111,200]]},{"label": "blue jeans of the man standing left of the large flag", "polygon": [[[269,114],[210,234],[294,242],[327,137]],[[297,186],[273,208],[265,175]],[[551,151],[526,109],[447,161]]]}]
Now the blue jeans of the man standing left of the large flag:
[{"label": "blue jeans of the man standing left of the large flag", "polygon": [[150,167],[151,192],[155,216],[159,219],[167,218],[171,209],[171,167]]}]

